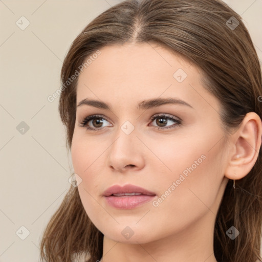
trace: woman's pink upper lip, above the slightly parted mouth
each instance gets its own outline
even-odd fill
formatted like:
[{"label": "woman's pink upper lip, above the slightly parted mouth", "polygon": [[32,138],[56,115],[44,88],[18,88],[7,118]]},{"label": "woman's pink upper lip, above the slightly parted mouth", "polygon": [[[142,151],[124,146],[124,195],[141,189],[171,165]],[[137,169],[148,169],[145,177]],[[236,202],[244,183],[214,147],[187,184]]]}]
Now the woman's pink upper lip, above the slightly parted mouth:
[{"label": "woman's pink upper lip, above the slightly parted mouth", "polygon": [[112,194],[117,194],[117,193],[141,193],[145,195],[156,195],[154,192],[148,191],[142,187],[135,186],[135,185],[113,185],[111,187],[108,187],[104,192],[103,195],[105,197],[108,197]]}]

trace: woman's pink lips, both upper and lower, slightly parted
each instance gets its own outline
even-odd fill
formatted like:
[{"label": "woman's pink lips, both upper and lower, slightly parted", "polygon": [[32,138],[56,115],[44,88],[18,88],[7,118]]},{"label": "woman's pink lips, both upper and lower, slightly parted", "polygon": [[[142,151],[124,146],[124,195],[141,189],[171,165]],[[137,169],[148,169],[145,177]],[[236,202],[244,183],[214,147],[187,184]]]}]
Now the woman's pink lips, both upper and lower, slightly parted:
[{"label": "woman's pink lips, both upper and lower, slightly parted", "polygon": [[106,203],[118,209],[132,209],[156,197],[154,192],[135,185],[114,185],[103,192]]}]

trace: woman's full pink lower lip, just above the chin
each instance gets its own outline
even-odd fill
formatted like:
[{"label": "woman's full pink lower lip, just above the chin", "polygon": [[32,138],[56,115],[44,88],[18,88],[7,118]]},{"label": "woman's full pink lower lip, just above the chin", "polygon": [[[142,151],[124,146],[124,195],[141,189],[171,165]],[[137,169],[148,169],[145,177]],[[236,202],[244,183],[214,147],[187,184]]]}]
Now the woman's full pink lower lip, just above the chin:
[{"label": "woman's full pink lower lip, just above the chin", "polygon": [[123,196],[123,197],[115,197],[114,195],[110,195],[109,197],[105,197],[108,205],[120,208],[120,209],[132,209],[138,207],[142,204],[145,204],[149,201],[152,201],[156,196],[155,195],[131,195],[131,196]]}]

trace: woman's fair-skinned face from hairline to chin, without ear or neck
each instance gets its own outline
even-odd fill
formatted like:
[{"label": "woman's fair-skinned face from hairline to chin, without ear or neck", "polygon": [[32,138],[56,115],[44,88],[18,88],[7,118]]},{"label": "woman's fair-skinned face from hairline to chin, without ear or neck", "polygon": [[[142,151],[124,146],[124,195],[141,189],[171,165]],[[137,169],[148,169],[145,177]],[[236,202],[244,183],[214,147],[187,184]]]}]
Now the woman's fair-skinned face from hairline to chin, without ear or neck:
[{"label": "woman's fair-skinned face from hairline to chin, without ear or neck", "polygon": [[[78,79],[71,148],[86,213],[118,242],[148,243],[189,228],[213,232],[228,181],[219,100],[194,64],[160,46],[100,51]],[[113,185],[143,190],[106,197]]]}]

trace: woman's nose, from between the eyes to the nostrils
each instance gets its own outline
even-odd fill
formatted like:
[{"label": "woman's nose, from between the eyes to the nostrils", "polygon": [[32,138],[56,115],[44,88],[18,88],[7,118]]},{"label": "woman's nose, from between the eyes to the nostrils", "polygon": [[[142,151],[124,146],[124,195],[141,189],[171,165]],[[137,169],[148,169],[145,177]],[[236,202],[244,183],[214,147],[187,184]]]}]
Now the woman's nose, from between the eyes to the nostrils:
[{"label": "woman's nose, from between the eyes to the nostrils", "polygon": [[114,136],[114,142],[108,148],[108,161],[112,171],[137,171],[144,167],[143,144],[137,138],[135,130],[129,135],[121,129]]}]

